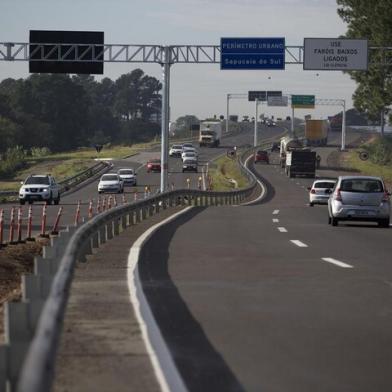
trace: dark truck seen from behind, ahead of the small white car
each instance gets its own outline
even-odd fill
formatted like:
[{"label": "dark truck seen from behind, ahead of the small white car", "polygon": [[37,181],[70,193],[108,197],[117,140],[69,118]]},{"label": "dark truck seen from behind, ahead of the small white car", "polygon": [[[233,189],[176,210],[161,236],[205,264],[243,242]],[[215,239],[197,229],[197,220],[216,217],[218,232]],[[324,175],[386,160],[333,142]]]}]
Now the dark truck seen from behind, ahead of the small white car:
[{"label": "dark truck seen from behind, ahead of the small white car", "polygon": [[297,176],[314,178],[316,175],[316,151],[288,151],[285,171],[290,178]]}]

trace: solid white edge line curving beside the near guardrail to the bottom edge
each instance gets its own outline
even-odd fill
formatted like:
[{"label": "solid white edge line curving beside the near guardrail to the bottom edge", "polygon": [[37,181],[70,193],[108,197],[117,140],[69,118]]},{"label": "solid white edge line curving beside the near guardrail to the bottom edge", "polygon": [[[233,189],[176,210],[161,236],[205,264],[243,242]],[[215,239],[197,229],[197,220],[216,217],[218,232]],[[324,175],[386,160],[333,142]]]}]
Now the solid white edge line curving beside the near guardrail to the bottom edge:
[{"label": "solid white edge line curving beside the near guardrail to the bottom edge", "polygon": [[170,350],[162,337],[147,298],[144,295],[137,265],[139,262],[140,250],[153,233],[161,226],[173,221],[179,215],[186,213],[191,208],[193,207],[187,207],[162,222],[150,227],[134,242],[128,254],[127,279],[129,295],[135,311],[136,319],[140,326],[147,353],[162,392],[186,392],[187,388],[180,373],[178,372]]}]

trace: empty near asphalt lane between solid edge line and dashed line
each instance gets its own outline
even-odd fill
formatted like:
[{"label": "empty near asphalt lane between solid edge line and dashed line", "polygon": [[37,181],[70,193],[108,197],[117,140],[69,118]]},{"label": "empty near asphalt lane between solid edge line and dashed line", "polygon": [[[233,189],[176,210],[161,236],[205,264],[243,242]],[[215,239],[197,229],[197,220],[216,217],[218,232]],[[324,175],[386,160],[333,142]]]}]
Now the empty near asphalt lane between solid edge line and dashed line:
[{"label": "empty near asphalt lane between solid edge line and dashed line", "polygon": [[[187,386],[222,390],[211,374],[223,367],[247,391],[391,390],[390,288],[294,246],[273,211],[202,210],[143,255],[147,298]],[[198,350],[206,342],[222,363]]]}]

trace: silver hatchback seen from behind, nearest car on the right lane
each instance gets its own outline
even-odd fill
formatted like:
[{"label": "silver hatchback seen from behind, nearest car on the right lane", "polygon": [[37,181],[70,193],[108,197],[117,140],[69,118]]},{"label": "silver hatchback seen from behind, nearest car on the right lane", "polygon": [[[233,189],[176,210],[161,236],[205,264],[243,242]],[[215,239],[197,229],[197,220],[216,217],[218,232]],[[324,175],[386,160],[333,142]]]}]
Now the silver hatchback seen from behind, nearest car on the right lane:
[{"label": "silver hatchback seen from behind, nearest car on the right lane", "polygon": [[373,221],[389,227],[391,195],[380,177],[341,176],[328,199],[328,223]]}]

